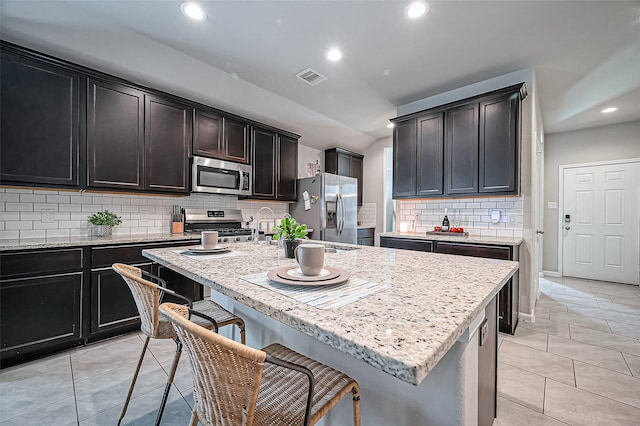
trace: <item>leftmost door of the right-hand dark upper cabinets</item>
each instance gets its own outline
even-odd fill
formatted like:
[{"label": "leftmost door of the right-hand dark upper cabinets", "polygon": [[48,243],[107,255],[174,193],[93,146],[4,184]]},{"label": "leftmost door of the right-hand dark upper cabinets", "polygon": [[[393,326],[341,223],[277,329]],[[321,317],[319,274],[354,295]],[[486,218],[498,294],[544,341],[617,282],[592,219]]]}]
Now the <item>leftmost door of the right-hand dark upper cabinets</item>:
[{"label": "leftmost door of the right-hand dark upper cabinets", "polygon": [[416,196],[416,119],[393,129],[393,198]]}]

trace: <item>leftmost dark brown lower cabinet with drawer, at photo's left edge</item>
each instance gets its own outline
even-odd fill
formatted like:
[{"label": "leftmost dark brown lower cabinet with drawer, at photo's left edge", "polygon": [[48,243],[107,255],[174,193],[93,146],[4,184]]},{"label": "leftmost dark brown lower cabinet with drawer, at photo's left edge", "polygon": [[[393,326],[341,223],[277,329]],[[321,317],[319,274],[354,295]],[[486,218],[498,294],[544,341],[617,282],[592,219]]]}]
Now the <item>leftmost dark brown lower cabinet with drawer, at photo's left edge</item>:
[{"label": "leftmost dark brown lower cabinet with drawer, at photo's left edge", "polygon": [[0,365],[81,345],[82,249],[0,255]]}]

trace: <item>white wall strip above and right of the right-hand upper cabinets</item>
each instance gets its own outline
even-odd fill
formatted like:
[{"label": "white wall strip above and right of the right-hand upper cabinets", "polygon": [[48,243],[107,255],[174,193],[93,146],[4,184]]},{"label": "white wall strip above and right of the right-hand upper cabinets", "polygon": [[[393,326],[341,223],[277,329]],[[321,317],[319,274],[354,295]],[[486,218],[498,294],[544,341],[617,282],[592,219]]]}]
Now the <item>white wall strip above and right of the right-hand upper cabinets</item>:
[{"label": "white wall strip above and right of the right-hand upper cabinets", "polygon": [[523,237],[524,243],[520,247],[520,310],[525,317],[533,314],[533,308],[538,296],[535,244],[535,217],[537,206],[537,186],[532,182],[535,166],[534,131],[542,129],[542,117],[539,115],[537,90],[533,69],[523,69],[504,74],[489,80],[480,81],[468,86],[460,87],[448,92],[440,93],[428,98],[398,106],[398,116],[411,114],[438,105],[455,102],[472,96],[481,95],[492,90],[524,82],[529,95],[522,102],[522,132],[521,132],[521,195],[523,201]]}]

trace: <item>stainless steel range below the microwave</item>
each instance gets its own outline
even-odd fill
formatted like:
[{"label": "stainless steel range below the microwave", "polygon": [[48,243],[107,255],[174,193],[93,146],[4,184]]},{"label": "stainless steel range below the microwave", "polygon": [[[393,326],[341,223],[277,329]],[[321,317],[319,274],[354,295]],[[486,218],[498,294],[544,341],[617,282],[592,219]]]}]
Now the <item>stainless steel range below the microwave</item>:
[{"label": "stainless steel range below the microwave", "polygon": [[184,232],[218,231],[219,243],[251,241],[251,229],[242,227],[237,209],[184,209]]}]

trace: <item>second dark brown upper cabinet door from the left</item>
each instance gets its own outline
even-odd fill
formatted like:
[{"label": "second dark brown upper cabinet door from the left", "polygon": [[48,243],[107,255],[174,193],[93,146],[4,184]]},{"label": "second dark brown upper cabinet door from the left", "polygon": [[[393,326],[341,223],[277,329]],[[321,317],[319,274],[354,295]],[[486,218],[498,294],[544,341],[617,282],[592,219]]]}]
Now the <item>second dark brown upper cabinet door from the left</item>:
[{"label": "second dark brown upper cabinet door from the left", "polygon": [[144,189],[144,93],[89,79],[87,172],[93,188]]}]

